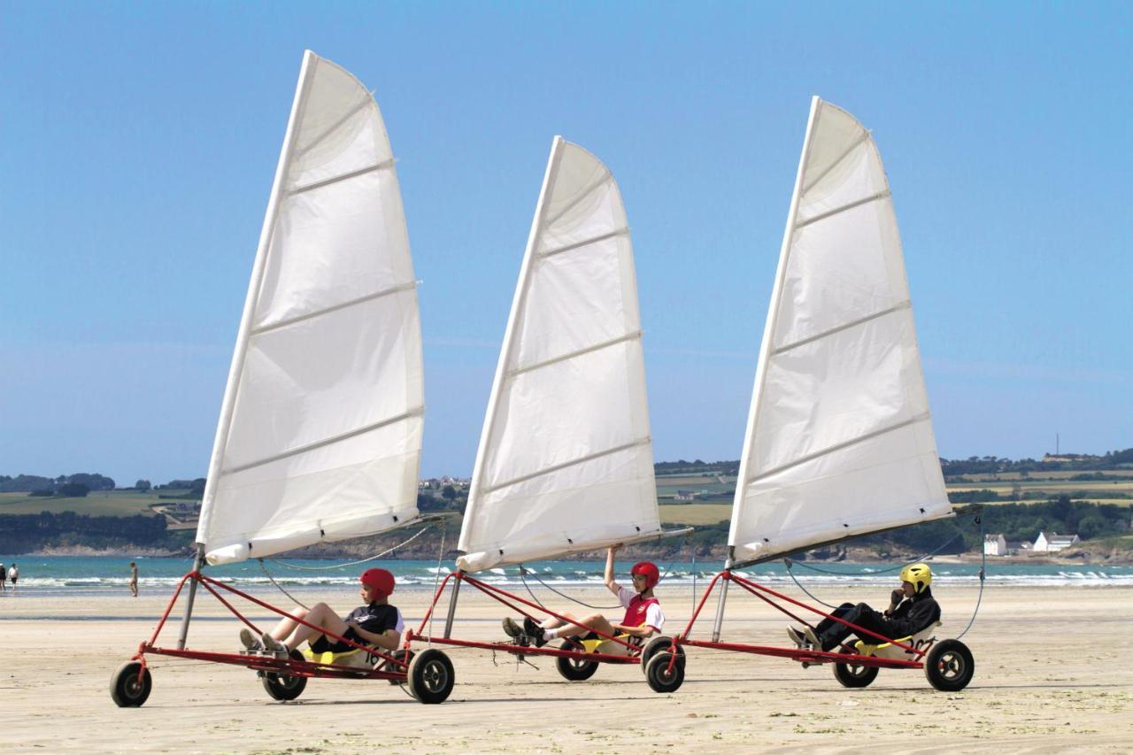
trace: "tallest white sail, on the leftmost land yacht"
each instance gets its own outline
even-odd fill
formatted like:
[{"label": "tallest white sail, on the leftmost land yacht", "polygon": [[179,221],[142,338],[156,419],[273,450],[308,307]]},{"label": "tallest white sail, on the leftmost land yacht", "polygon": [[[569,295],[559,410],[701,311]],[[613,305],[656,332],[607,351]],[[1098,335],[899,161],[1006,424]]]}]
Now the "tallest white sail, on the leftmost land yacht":
[{"label": "tallest white sail, on the leftmost land yacht", "polygon": [[202,501],[210,563],[417,516],[423,372],[393,154],[353,76],[304,57]]}]

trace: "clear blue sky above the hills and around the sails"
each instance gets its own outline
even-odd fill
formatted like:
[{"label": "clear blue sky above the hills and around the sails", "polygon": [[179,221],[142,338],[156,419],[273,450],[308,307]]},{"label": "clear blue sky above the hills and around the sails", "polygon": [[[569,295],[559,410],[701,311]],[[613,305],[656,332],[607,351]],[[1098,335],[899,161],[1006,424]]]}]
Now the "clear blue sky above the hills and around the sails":
[{"label": "clear blue sky above the hills and around the sails", "polygon": [[874,130],[940,453],[1133,446],[1127,3],[3,3],[0,474],[201,476],[305,48],[376,93],[471,472],[552,136],[619,179],[655,456],[734,459],[812,94]]}]

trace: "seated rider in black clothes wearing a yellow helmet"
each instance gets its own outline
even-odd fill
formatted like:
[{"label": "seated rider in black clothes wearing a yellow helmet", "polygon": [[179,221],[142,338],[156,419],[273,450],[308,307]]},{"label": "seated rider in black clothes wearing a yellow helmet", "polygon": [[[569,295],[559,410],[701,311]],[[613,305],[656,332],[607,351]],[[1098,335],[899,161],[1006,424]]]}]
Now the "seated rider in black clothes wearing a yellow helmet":
[{"label": "seated rider in black clothes wearing a yellow helmet", "polygon": [[[932,570],[927,563],[913,563],[901,570],[901,587],[889,596],[889,608],[884,613],[875,611],[866,603],[843,603],[830,616],[837,617],[862,629],[875,631],[888,639],[911,637],[940,619],[940,606],[932,597]],[[853,634],[850,627],[826,618],[811,629],[787,627],[786,634],[800,650],[830,651]],[[857,635],[868,645],[878,645],[880,639],[864,633]]]}]

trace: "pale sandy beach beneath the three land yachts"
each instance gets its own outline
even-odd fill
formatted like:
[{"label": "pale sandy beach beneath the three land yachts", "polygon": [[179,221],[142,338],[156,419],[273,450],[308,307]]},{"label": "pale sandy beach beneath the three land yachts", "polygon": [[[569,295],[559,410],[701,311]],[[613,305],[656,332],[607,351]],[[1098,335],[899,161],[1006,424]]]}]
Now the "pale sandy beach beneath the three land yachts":
[{"label": "pale sandy beach beneath the three land yachts", "polygon": [[[827,600],[881,602],[853,588]],[[801,594],[790,593],[802,599]],[[276,594],[259,597],[275,600]],[[691,591],[659,591],[667,628],[683,626]],[[608,604],[597,591],[577,596]],[[1133,748],[1133,588],[989,587],[964,642],[976,677],[961,693],[934,690],[921,671],[883,670],[845,689],[830,667],[691,648],[685,682],[658,695],[636,665],[604,665],[588,681],[563,680],[504,654],[452,650],[457,686],[443,705],[421,705],[385,681],[312,680],[293,703],[273,702],[254,672],[151,658],[153,694],[119,709],[109,680],[153,630],[168,595],[0,597],[0,746],[6,753],[86,752],[845,752],[1127,753]],[[343,611],[342,591],[301,594]],[[424,592],[397,593],[407,619]],[[550,605],[562,601],[540,594]],[[963,630],[973,588],[940,588],[945,625]],[[190,647],[235,651],[235,620],[205,596]],[[267,612],[250,616],[269,623]],[[501,638],[501,606],[466,591],[455,636]],[[707,637],[710,612],[695,635]],[[785,621],[733,593],[724,639],[782,645]],[[176,646],[176,625],[159,644]],[[440,623],[437,631],[440,631]],[[1077,635],[1080,639],[1075,639]]]}]

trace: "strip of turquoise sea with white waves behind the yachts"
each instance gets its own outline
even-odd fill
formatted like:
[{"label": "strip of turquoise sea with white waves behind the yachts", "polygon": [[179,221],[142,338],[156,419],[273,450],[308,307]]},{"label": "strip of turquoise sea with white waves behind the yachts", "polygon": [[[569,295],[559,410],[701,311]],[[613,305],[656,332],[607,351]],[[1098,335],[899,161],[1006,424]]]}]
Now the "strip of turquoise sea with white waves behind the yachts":
[{"label": "strip of turquoise sea with white waves behind the yachts", "polygon": [[[173,588],[193,567],[189,558],[118,558],[90,555],[12,555],[0,554],[8,567],[19,565],[19,595],[58,596],[73,594],[127,594],[130,577],[129,562],[138,567],[139,589],[153,595],[172,594]],[[1133,566],[1067,566],[999,563],[989,558],[985,565],[976,562],[931,561],[934,582],[943,585],[978,585],[981,566],[985,567],[987,584],[996,586],[1091,586],[1106,587],[1133,585]],[[628,579],[632,562],[617,563],[619,577]],[[707,586],[707,580],[717,574],[721,563],[714,560],[691,562],[689,560],[661,561],[658,566],[665,584],[671,587],[698,589]],[[767,585],[783,587],[798,580],[808,588],[823,585],[864,585],[888,588],[896,580],[902,568],[898,562],[794,562],[790,569],[780,561],[770,561],[735,574]],[[315,589],[326,592],[352,591],[358,584],[358,575],[369,567],[389,569],[398,578],[398,589],[434,589],[440,579],[454,568],[452,562],[436,560],[376,560],[365,563],[343,565],[341,559],[264,559],[242,563],[206,567],[204,572],[242,591],[257,593],[274,591],[275,585],[284,589]],[[521,575],[516,566],[488,569],[475,575],[482,582],[506,589],[523,589],[540,586],[569,591],[603,584],[605,561],[536,561],[525,565],[530,574]],[[12,595],[11,585],[8,593]]]}]

